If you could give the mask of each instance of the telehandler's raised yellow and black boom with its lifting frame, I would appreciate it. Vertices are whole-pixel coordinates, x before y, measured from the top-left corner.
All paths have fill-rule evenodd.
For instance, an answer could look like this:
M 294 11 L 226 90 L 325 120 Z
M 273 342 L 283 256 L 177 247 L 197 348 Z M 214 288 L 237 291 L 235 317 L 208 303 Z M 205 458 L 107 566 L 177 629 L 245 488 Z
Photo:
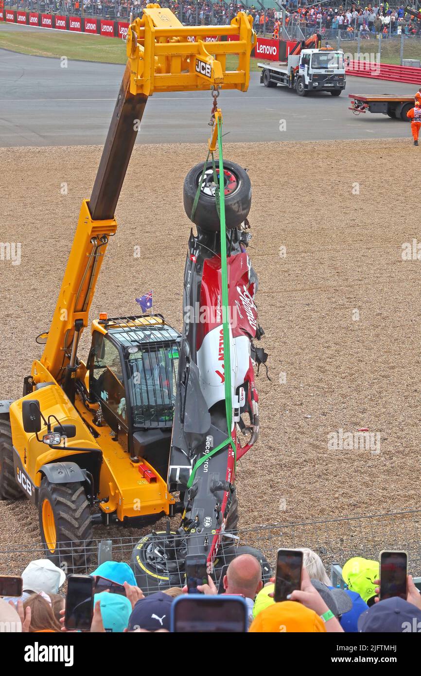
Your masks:
M 212 33 L 216 42 L 207 43 Z M 234 41 L 222 41 L 232 35 Z M 109 126 L 91 199 L 84 200 L 41 364 L 32 377 L 55 379 L 74 400 L 76 351 L 88 325 L 93 293 L 109 237 L 116 233 L 114 211 L 149 96 L 155 92 L 239 89 L 249 85 L 253 19 L 240 11 L 229 26 L 183 26 L 170 9 L 147 5 L 128 28 L 128 62 Z M 235 70 L 227 55 L 238 54 Z

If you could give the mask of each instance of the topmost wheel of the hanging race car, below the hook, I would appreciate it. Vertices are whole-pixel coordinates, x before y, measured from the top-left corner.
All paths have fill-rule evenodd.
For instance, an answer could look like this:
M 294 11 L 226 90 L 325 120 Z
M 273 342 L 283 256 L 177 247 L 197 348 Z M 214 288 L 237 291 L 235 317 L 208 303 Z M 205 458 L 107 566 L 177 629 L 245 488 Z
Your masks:
M 216 209 L 214 170 L 212 162 L 207 162 L 201 193 L 193 218 L 191 218 L 193 203 L 201 180 L 204 162 L 197 164 L 184 178 L 184 210 L 198 228 L 207 232 L 216 233 L 220 229 L 218 210 Z M 219 179 L 219 168 L 216 167 Z M 237 228 L 250 211 L 251 183 L 246 170 L 234 162 L 224 160 L 225 185 L 225 221 L 226 228 Z

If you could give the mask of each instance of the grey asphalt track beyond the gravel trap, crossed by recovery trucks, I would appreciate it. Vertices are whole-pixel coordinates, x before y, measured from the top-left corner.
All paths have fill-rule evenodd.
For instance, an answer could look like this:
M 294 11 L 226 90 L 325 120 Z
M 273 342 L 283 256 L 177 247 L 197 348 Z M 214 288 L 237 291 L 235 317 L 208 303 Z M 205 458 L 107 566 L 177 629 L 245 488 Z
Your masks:
M 8 26 L 9 28 L 9 26 Z M 28 56 L 0 49 L 0 147 L 103 144 L 124 66 Z M 226 141 L 342 141 L 410 137 L 409 126 L 387 116 L 353 116 L 348 93 L 415 93 L 416 84 L 347 78 L 337 98 L 300 98 L 284 87 L 266 89 L 251 73 L 249 91 L 224 91 L 220 105 Z M 140 143 L 203 143 L 210 93 L 155 94 L 148 101 Z M 286 129 L 280 131 L 280 120 Z

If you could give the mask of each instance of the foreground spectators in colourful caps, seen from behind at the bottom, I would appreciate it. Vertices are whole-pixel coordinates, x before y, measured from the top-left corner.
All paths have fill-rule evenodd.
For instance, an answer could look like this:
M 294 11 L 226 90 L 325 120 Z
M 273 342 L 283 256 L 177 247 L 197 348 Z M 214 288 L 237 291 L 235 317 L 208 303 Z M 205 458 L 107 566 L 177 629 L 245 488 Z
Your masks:
M 262 582 L 259 560 L 251 554 L 234 558 L 223 578 L 223 594 L 242 597 L 247 604 L 249 632 L 386 632 L 421 631 L 421 596 L 407 577 L 407 599 L 399 596 L 379 601 L 379 564 L 354 557 L 343 566 L 346 588 L 332 587 L 320 556 L 303 552 L 301 589 L 288 600 L 274 602 L 274 579 Z M 92 575 L 123 585 L 123 594 L 95 594 L 91 632 L 170 631 L 171 606 L 187 587 L 172 587 L 144 596 L 130 566 L 107 561 Z M 66 582 L 64 571 L 51 560 L 30 562 L 22 572 L 20 598 L 0 599 L 0 631 L 61 632 L 64 627 Z M 211 577 L 197 587 L 205 595 L 218 594 Z M 224 618 L 226 625 L 226 618 Z M 217 630 L 217 627 L 215 627 Z M 194 627 L 193 627 L 194 631 Z M 228 629 L 229 631 L 229 629 Z

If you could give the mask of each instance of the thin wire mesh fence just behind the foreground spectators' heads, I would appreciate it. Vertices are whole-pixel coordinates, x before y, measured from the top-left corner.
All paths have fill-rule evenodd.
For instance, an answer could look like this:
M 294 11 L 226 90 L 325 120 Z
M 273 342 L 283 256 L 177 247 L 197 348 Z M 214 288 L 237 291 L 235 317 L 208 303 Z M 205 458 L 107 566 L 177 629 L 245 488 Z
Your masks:
M 186 535 L 180 534 L 177 528 L 178 523 L 173 520 L 171 528 L 168 522 L 166 530 L 148 533 L 149 529 L 143 529 L 137 537 L 95 539 L 77 545 L 61 543 L 55 563 L 65 573 L 92 573 L 107 560 L 124 561 L 132 567 L 144 592 L 153 592 L 159 585 L 179 586 L 184 583 Z M 188 537 L 189 551 L 195 553 L 195 538 L 203 543 L 203 535 L 191 533 Z M 262 554 L 262 569 L 268 579 L 274 571 L 278 548 L 299 547 L 314 550 L 322 558 L 326 571 L 336 571 L 335 575 L 353 556 L 378 560 L 382 550 L 403 550 L 408 554 L 409 572 L 418 577 L 421 574 L 421 510 L 239 528 L 224 535 L 214 577 L 218 582 L 224 564 L 229 564 L 236 552 L 253 548 Z M 253 550 L 251 553 L 257 554 Z M 44 557 L 41 544 L 30 550 L 0 550 L 0 574 L 20 574 L 31 560 Z

